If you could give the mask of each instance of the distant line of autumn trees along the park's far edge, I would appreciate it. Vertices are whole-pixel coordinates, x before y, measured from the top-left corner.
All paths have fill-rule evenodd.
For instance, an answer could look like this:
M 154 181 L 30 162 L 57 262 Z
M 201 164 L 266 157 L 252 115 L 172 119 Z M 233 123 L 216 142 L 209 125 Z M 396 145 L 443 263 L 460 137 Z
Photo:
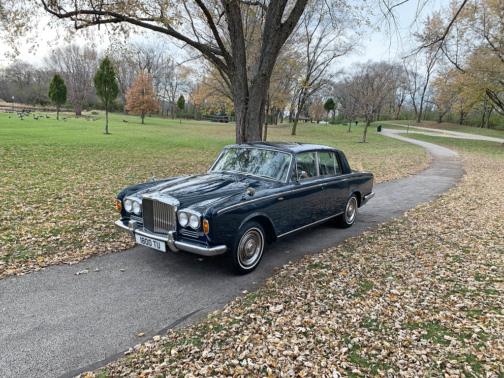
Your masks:
M 349 131 L 350 120 L 357 118 L 365 130 L 371 121 L 400 119 L 503 130 L 504 66 L 499 57 L 504 49 L 498 42 L 504 29 L 498 22 L 499 7 L 488 2 L 486 7 L 467 10 L 458 16 L 455 29 L 439 39 L 458 9 L 454 3 L 423 21 L 402 59 L 361 62 L 346 70 L 338 69 L 341 57 L 358 41 L 346 24 L 331 19 L 334 15 L 327 5 L 310 7 L 276 60 L 263 104 L 263 140 L 269 124 L 292 122 L 295 134 L 300 119 L 348 123 Z M 254 49 L 260 44 L 254 26 L 250 28 L 247 48 L 254 71 L 259 59 Z M 144 115 L 155 112 L 192 119 L 218 112 L 234 115 L 233 94 L 219 70 L 196 55 L 191 65 L 178 64 L 163 42 L 133 43 L 103 53 L 70 45 L 54 50 L 39 66 L 16 60 L 0 69 L 0 96 L 7 102 L 15 96 L 16 102 L 49 105 L 48 85 L 58 73 L 68 86 L 68 103 L 77 114 L 83 108 L 104 109 L 92 81 L 104 54 L 110 57 L 119 89 L 109 108 L 112 111 L 128 111 L 124 107 L 127 93 L 140 72 L 145 72 L 157 103 L 143 108 Z M 177 104 L 180 96 L 185 99 L 182 108 Z

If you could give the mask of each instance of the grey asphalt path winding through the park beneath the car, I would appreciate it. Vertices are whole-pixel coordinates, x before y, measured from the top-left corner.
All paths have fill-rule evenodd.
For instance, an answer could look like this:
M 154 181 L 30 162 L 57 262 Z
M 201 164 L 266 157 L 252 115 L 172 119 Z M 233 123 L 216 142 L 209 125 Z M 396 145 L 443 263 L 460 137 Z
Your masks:
M 392 136 L 392 131 L 382 134 Z M 0 377 L 71 377 L 96 368 L 167 328 L 206 317 L 243 290 L 256 290 L 254 283 L 264 284 L 275 267 L 435 200 L 463 175 L 460 156 L 412 143 L 434 156 L 431 168 L 375 185 L 375 197 L 359 209 L 349 229 L 326 223 L 267 246 L 259 268 L 246 276 L 230 275 L 216 258 L 137 246 L 0 280 Z M 86 268 L 89 273 L 74 275 Z

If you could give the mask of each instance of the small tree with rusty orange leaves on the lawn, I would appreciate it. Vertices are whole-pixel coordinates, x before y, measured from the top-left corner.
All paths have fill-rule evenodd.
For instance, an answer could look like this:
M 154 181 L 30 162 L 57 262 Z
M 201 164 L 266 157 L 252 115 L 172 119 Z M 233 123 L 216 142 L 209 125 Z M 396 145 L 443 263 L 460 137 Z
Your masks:
M 126 92 L 126 104 L 124 109 L 130 110 L 134 114 L 140 114 L 142 124 L 147 111 L 159 109 L 159 100 L 156 99 L 152 77 L 145 71 L 140 71 L 132 87 Z

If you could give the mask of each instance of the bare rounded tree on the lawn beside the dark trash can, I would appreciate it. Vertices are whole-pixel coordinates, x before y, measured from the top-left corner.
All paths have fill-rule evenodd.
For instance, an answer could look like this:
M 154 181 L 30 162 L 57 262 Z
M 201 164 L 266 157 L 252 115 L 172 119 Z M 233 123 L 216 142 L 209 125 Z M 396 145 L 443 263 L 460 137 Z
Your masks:
M 365 143 L 372 118 L 380 113 L 380 109 L 393 98 L 397 90 L 397 69 L 385 61 L 358 64 L 347 79 L 347 86 L 352 88 L 351 97 L 357 112 L 366 119 L 361 142 Z

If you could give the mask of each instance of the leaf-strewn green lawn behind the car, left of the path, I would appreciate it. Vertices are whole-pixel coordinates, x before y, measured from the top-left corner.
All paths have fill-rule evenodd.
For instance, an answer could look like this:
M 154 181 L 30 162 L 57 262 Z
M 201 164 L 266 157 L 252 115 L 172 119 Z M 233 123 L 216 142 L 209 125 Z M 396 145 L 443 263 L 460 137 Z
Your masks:
M 69 115 L 67 115 L 69 116 Z M 113 221 L 117 192 L 146 180 L 206 171 L 234 143 L 234 124 L 109 115 L 67 121 L 0 113 L 0 278 L 79 261 L 133 245 Z M 123 122 L 122 119 L 128 122 Z M 427 163 L 425 150 L 362 127 L 270 126 L 271 141 L 326 144 L 342 149 L 352 168 L 376 181 L 404 177 Z M 427 162 L 427 163 L 426 163 Z

